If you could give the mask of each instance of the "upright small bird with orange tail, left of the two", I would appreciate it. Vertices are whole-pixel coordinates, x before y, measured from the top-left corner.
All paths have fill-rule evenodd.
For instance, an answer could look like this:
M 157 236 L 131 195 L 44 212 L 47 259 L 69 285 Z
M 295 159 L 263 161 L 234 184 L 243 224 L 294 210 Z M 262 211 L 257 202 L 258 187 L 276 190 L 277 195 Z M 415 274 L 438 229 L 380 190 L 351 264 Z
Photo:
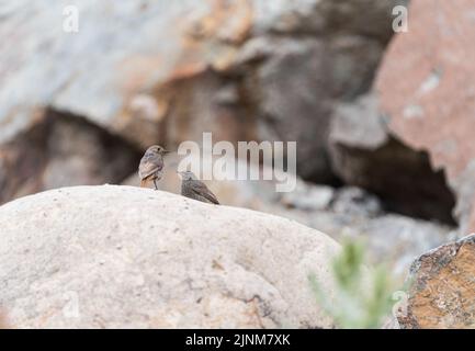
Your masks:
M 146 188 L 148 182 L 154 181 L 155 190 L 158 190 L 157 180 L 160 180 L 163 176 L 165 154 L 168 154 L 168 151 L 160 145 L 152 145 L 145 151 L 138 166 L 140 188 Z

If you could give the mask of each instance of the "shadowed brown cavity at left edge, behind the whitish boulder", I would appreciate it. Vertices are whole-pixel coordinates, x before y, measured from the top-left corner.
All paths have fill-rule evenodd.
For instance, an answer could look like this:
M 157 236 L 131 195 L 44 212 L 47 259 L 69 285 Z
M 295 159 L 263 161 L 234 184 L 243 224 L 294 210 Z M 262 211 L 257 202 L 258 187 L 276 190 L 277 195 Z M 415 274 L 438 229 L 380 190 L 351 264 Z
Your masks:
M 0 203 L 42 190 L 120 183 L 140 152 L 87 120 L 54 110 L 0 147 Z

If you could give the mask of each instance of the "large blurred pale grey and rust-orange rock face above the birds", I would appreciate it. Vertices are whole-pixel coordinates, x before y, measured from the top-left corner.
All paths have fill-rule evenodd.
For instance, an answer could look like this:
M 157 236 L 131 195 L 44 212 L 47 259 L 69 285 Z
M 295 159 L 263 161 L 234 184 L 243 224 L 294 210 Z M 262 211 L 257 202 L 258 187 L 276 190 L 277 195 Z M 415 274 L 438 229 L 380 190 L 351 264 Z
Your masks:
M 16 140 L 36 131 L 50 110 L 83 117 L 140 148 L 201 140 L 203 131 L 215 140 L 297 140 L 298 172 L 328 181 L 333 102 L 369 89 L 393 35 L 392 9 L 406 2 L 3 1 L 3 197 L 48 188 L 34 181 L 42 165 L 30 166 L 31 177 L 20 182 L 25 186 L 5 181 L 21 166 L 4 154 L 21 152 Z M 65 5 L 78 9 L 77 33 L 63 31 Z M 37 149 L 35 158 L 49 158 Z M 88 177 L 83 183 L 93 183 Z

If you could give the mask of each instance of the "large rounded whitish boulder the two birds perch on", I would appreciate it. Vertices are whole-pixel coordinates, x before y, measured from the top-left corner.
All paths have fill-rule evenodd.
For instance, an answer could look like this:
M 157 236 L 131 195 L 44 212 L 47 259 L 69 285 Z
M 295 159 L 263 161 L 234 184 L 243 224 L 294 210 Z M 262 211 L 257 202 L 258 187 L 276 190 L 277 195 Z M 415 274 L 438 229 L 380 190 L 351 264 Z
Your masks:
M 13 327 L 331 327 L 338 245 L 295 222 L 161 191 L 77 186 L 0 207 Z

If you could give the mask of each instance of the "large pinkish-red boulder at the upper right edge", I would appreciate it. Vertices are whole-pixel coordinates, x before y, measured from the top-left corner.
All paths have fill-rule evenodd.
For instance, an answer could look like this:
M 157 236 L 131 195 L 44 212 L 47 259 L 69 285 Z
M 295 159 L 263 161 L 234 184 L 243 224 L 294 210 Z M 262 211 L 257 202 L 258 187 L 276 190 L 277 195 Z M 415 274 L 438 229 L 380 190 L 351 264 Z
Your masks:
M 445 171 L 462 233 L 475 229 L 474 13 L 471 0 L 411 1 L 409 32 L 394 38 L 375 82 L 391 133 Z

